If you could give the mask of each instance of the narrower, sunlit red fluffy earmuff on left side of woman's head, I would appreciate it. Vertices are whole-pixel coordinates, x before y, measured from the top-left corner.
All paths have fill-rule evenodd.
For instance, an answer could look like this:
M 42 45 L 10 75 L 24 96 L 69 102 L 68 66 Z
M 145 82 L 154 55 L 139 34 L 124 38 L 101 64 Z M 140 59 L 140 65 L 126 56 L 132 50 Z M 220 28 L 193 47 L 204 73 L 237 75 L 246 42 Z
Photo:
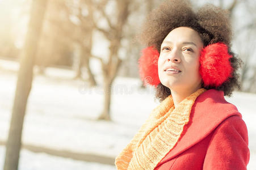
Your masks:
M 144 85 L 150 84 L 156 87 L 160 84 L 157 67 L 158 58 L 158 50 L 153 46 L 142 49 L 139 59 L 139 71 Z

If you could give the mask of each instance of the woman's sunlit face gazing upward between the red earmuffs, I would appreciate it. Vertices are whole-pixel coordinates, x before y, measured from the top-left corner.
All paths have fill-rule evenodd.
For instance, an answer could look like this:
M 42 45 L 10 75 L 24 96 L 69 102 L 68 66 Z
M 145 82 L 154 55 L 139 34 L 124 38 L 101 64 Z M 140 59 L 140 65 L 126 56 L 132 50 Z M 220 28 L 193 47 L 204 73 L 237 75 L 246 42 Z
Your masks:
M 158 59 L 158 76 L 170 90 L 197 90 L 201 87 L 199 74 L 200 50 L 203 41 L 192 28 L 173 29 L 163 40 Z

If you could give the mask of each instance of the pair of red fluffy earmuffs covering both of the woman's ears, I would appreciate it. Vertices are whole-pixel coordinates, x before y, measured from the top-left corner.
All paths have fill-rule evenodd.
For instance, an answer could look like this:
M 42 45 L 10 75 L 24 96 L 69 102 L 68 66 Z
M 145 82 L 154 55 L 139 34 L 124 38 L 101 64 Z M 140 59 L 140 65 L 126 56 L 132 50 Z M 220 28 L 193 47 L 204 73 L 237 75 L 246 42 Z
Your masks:
M 159 55 L 153 46 L 142 50 L 139 59 L 139 71 L 144 85 L 150 84 L 156 87 L 160 84 L 157 67 Z M 222 42 L 205 46 L 202 49 L 199 72 L 204 86 L 219 87 L 232 76 L 233 69 L 229 58 L 232 56 L 228 53 L 228 46 Z

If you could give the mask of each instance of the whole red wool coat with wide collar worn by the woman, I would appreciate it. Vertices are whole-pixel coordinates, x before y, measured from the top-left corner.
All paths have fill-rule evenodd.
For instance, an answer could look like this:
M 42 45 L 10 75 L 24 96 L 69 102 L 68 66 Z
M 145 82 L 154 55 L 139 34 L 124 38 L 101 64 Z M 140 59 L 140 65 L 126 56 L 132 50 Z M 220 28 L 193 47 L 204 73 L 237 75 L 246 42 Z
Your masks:
M 223 94 L 208 90 L 196 99 L 177 145 L 155 169 L 246 169 L 247 128 Z

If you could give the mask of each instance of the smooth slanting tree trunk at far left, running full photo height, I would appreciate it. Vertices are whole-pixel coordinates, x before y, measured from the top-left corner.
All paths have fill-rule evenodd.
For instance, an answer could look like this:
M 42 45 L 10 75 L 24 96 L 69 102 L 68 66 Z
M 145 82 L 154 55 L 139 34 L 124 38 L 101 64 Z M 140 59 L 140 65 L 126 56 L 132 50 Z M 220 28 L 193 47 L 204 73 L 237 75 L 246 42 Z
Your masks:
M 6 143 L 4 170 L 18 169 L 23 120 L 26 113 L 27 99 L 32 86 L 37 42 L 39 41 L 46 6 L 47 0 L 32 1 L 30 23 L 20 58 L 20 69 L 12 108 L 9 137 Z

